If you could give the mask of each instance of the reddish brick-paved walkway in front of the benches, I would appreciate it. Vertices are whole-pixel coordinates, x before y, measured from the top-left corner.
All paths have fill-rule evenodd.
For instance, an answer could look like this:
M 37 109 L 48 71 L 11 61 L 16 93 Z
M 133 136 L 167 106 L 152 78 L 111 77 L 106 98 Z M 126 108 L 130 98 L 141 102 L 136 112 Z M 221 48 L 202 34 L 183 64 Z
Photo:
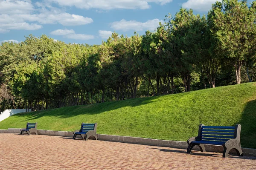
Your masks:
M 256 157 L 45 135 L 0 134 L 0 170 L 255 170 Z

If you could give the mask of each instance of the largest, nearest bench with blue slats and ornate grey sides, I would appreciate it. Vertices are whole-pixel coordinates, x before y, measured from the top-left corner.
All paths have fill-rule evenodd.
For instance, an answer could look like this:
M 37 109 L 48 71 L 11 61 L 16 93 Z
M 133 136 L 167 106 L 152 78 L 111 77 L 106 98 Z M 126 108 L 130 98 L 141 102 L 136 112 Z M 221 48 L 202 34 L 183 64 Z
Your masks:
M 235 149 L 238 156 L 243 156 L 240 143 L 241 125 L 235 127 L 227 126 L 204 126 L 199 125 L 198 136 L 189 138 L 187 143 L 187 153 L 191 153 L 195 145 L 200 147 L 201 152 L 205 152 L 204 144 L 220 145 L 224 147 L 222 157 L 227 158 L 231 149 Z

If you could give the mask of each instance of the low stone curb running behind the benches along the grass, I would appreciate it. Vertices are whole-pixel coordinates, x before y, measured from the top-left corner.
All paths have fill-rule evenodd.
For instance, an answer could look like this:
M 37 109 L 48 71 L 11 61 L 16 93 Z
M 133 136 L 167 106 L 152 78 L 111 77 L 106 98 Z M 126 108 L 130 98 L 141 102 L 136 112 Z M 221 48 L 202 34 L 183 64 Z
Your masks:
M 20 133 L 18 128 L 8 128 L 8 130 L 0 130 L 0 133 Z M 38 130 L 38 135 L 52 135 L 52 136 L 63 136 L 63 137 L 73 137 L 73 132 L 67 131 L 53 131 L 53 130 Z M 185 141 L 167 141 L 159 139 L 150 138 L 137 138 L 130 136 L 118 136 L 118 135 L 103 135 L 97 134 L 98 140 L 100 141 L 112 141 L 112 142 L 122 142 L 129 144 L 143 144 L 158 147 L 175 147 L 179 149 L 187 149 L 187 143 Z M 199 150 L 199 147 L 195 147 L 195 150 Z M 207 152 L 217 152 L 222 153 L 222 146 L 215 145 L 205 145 L 205 150 Z M 256 156 L 256 149 L 242 148 L 244 155 L 246 156 Z M 230 151 L 231 154 L 236 154 L 235 150 Z

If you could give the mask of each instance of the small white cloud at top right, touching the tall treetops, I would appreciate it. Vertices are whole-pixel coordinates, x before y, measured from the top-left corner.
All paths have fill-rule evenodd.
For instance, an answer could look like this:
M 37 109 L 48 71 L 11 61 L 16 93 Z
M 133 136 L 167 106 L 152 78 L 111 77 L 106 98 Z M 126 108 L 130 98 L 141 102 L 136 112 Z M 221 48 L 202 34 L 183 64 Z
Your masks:
M 207 12 L 216 1 L 217 0 L 188 0 L 186 3 L 182 4 L 182 7 L 193 9 L 195 11 Z

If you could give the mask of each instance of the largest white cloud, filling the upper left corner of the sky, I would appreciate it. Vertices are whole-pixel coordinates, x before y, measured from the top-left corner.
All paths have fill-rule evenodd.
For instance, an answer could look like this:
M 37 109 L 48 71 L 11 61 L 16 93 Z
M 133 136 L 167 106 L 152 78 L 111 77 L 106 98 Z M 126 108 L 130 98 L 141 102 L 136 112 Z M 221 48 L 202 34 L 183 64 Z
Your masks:
M 41 29 L 41 24 L 78 26 L 93 22 L 92 18 L 69 14 L 49 4 L 35 5 L 30 0 L 0 0 L 0 33 L 9 32 L 11 29 Z

